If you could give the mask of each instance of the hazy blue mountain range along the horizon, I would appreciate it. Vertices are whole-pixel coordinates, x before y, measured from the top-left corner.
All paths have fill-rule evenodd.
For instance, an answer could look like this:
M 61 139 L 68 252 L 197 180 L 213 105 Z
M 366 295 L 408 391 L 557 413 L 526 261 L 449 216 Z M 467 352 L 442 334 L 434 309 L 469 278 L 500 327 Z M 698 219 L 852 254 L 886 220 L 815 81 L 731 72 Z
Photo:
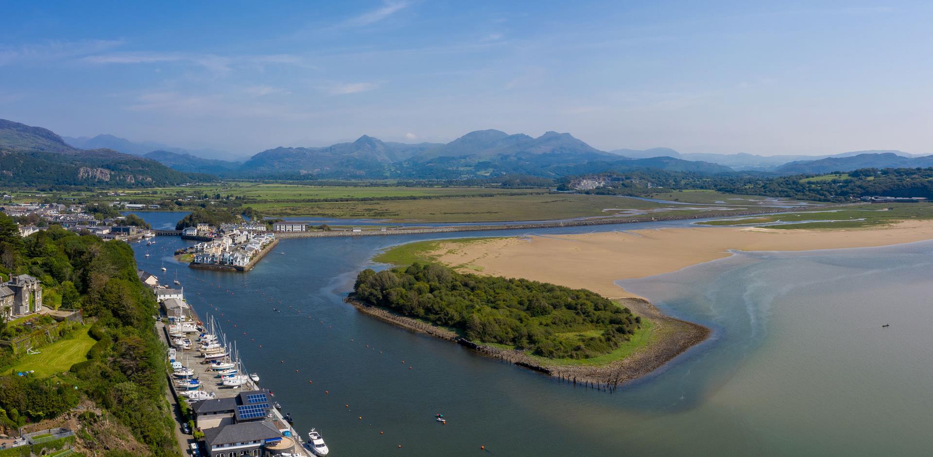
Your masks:
M 104 145 L 107 147 L 100 147 Z M 81 146 L 94 148 L 81 149 Z M 160 143 L 136 143 L 108 134 L 63 139 L 41 127 L 2 119 L 0 150 L 5 154 L 2 170 L 7 177 L 14 170 L 7 167 L 18 167 L 21 176 L 30 175 L 23 169 L 27 157 L 32 160 L 29 166 L 36 170 L 60 172 L 61 179 L 46 179 L 43 181 L 46 184 L 163 185 L 188 181 L 190 173 L 256 179 L 460 179 L 503 174 L 561 177 L 633 170 L 829 173 L 933 165 L 933 157 L 901 151 L 854 151 L 827 156 L 679 153 L 667 147 L 602 151 L 569 133 L 545 132 L 533 137 L 497 130 L 469 132 L 446 144 L 383 142 L 362 135 L 354 142 L 323 147 L 274 147 L 240 162 L 202 156 L 217 153 L 215 150 L 189 151 Z M 21 159 L 19 165 L 7 157 L 13 153 Z M 80 171 L 84 169 L 110 173 Z M 25 185 L 22 183 L 28 181 L 5 179 L 0 183 Z

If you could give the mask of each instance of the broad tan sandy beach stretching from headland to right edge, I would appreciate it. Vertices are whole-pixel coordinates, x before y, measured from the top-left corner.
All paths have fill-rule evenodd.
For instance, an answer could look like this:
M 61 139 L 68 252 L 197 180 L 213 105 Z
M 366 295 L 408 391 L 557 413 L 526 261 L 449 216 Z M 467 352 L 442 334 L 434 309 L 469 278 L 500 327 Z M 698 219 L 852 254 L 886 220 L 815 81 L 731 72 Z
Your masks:
M 431 255 L 464 272 L 519 277 L 637 298 L 614 284 L 667 273 L 741 251 L 808 251 L 884 246 L 933 239 L 933 221 L 886 228 L 659 228 L 585 235 L 531 236 L 440 243 Z

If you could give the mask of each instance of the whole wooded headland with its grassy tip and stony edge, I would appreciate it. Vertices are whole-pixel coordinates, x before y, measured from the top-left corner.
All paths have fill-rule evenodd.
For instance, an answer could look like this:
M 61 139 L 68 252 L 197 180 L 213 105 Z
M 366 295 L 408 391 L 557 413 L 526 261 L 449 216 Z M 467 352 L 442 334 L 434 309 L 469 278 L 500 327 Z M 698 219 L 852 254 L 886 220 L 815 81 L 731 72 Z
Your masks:
M 660 312 L 634 315 L 626 301 L 590 290 L 461 273 L 438 263 L 363 270 L 354 290 L 348 301 L 385 321 L 606 388 L 647 374 L 709 333 Z

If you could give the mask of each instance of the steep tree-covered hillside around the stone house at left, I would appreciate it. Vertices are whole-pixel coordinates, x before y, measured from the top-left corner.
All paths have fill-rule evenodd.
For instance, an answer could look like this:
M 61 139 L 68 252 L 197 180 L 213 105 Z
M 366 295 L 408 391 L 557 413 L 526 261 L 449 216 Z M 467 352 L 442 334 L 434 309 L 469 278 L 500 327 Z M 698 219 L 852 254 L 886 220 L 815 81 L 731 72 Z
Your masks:
M 81 310 L 96 339 L 87 361 L 50 378 L 0 376 L 0 425 L 15 430 L 90 399 L 107 411 L 108 421 L 128 427 L 148 455 L 178 455 L 165 401 L 165 357 L 154 331 L 156 302 L 136 276 L 130 245 L 57 226 L 23 239 L 0 214 L 0 273 L 41 280 L 46 304 L 61 300 L 64 308 Z M 0 372 L 17 363 L 8 348 L 0 350 Z M 77 436 L 89 446 L 97 438 L 81 431 Z

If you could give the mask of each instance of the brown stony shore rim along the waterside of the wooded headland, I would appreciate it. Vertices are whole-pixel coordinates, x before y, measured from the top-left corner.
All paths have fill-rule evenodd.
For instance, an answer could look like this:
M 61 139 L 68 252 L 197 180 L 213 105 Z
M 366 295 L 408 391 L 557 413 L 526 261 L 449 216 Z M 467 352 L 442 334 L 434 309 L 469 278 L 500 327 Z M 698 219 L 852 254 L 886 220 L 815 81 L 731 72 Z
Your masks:
M 620 298 L 617 301 L 620 301 L 621 305 L 627 306 L 634 312 L 638 312 L 638 315 L 644 316 L 654 323 L 655 327 L 651 335 L 652 342 L 624 359 L 610 362 L 604 366 L 563 365 L 548 363 L 541 358 L 529 356 L 522 351 L 502 349 L 470 341 L 446 328 L 359 301 L 354 298 L 353 293 L 349 294 L 343 301 L 353 306 L 356 311 L 369 314 L 388 324 L 444 339 L 464 346 L 480 355 L 503 360 L 522 368 L 558 378 L 561 381 L 571 382 L 574 385 L 581 384 L 585 387 L 606 390 L 607 392 L 615 391 L 620 385 L 634 381 L 663 367 L 689 348 L 708 339 L 712 333 L 709 328 L 703 325 L 663 314 L 648 300 Z M 674 331 L 668 331 L 671 329 Z

